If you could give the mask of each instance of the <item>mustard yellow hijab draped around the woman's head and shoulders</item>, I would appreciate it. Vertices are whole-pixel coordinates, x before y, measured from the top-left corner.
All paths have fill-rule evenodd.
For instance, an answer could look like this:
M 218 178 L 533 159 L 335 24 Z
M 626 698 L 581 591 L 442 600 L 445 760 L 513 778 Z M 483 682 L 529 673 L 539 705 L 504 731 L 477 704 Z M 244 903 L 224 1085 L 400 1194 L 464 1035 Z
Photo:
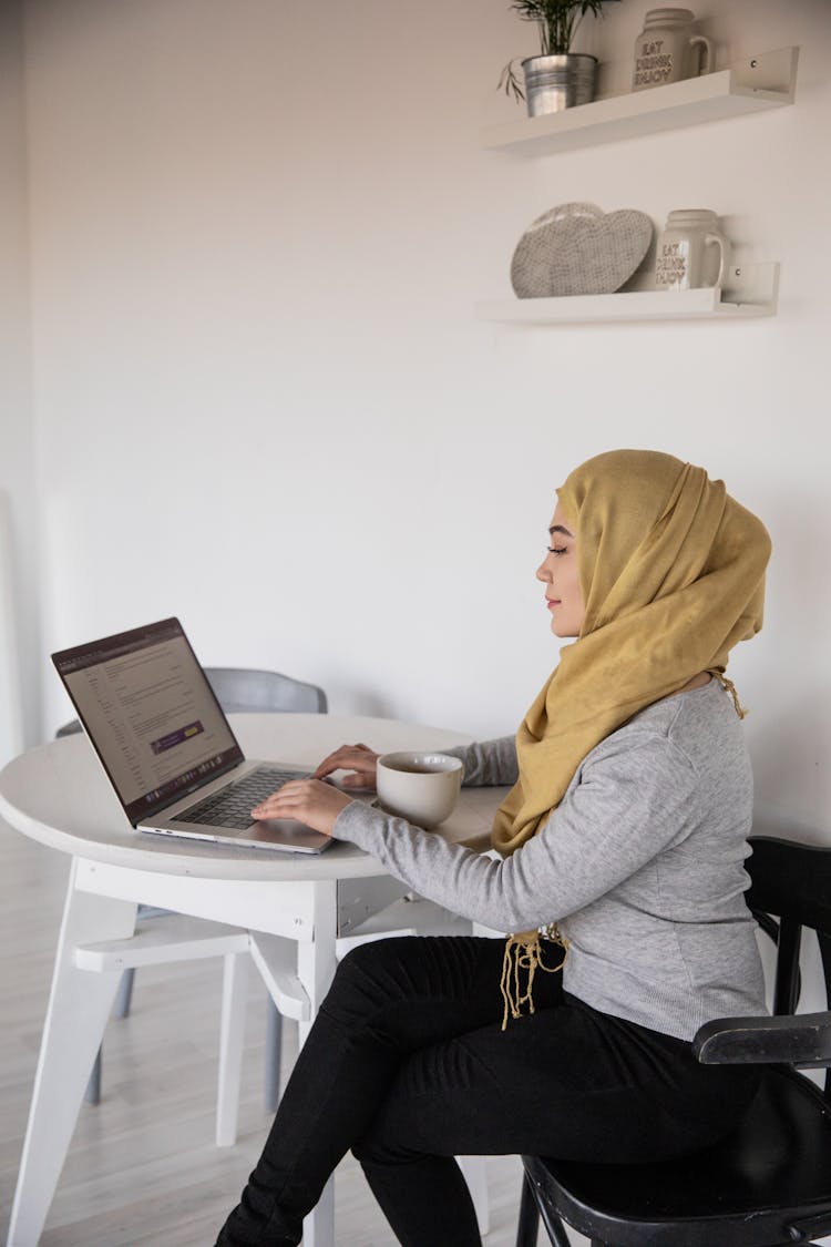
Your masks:
M 770 537 L 703 468 L 649 450 L 589 459 L 557 490 L 586 615 L 517 733 L 518 783 L 492 843 L 508 854 L 559 804 L 586 754 L 761 627 Z

